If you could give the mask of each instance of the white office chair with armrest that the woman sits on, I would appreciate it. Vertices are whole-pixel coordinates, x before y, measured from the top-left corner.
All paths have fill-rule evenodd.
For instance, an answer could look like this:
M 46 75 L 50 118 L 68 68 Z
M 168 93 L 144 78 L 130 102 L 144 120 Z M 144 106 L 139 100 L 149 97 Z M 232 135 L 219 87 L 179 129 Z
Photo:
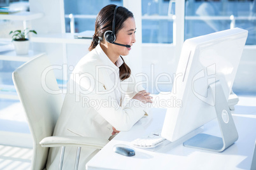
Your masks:
M 77 169 L 81 147 L 102 148 L 108 143 L 108 140 L 83 136 L 52 136 L 63 99 L 46 55 L 24 63 L 12 77 L 32 134 L 31 169 L 45 168 L 49 147 L 62 147 L 59 169 L 62 169 L 65 147 L 78 147 L 74 165 Z

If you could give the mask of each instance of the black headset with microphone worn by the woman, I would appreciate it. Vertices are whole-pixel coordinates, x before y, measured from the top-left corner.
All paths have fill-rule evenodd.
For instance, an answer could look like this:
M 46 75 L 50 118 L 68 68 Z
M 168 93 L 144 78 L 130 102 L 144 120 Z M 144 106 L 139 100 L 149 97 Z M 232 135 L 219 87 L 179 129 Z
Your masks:
M 117 8 L 118 7 L 119 6 L 116 6 L 115 10 L 114 10 L 112 30 L 107 30 L 104 33 L 104 37 L 106 39 L 106 42 L 110 42 L 111 44 L 116 44 L 118 46 L 124 46 L 126 48 L 131 48 L 131 46 L 128 45 L 128 44 L 119 44 L 119 43 L 115 42 L 115 40 L 116 40 L 116 36 L 115 36 L 115 16 L 117 15 Z

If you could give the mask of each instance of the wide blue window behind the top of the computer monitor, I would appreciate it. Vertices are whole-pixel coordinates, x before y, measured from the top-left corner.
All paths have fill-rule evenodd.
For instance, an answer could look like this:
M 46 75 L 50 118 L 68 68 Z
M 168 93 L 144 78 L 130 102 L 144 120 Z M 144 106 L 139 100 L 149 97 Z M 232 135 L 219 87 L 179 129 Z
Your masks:
M 239 27 L 248 30 L 246 44 L 256 44 L 256 3 L 252 0 L 185 3 L 185 39 Z

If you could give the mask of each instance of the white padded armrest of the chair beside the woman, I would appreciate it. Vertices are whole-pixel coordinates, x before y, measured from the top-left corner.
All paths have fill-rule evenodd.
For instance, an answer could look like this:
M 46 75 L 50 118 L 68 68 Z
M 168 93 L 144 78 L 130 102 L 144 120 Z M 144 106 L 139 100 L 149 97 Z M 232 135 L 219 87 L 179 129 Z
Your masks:
M 49 136 L 39 142 L 41 147 L 90 147 L 103 148 L 108 140 L 85 136 Z

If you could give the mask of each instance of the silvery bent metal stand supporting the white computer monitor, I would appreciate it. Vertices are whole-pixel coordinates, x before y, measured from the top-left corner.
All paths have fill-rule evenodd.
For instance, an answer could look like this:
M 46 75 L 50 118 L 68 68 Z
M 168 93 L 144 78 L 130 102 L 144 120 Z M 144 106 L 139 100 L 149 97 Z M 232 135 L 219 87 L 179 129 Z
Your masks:
M 222 152 L 238 140 L 238 131 L 236 131 L 236 126 L 220 82 L 214 82 L 209 87 L 215 101 L 215 110 L 222 138 L 200 133 L 185 141 L 183 145 L 185 147 Z

